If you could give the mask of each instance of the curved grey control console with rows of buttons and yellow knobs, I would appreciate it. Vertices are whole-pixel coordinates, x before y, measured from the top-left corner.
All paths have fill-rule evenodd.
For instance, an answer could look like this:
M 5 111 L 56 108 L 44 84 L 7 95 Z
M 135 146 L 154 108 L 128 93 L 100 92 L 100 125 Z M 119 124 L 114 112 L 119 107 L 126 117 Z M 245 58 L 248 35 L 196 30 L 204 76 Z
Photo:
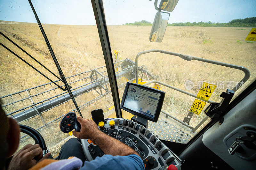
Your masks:
M 143 160 L 145 169 L 159 169 L 162 166 L 175 165 L 180 170 L 182 160 L 170 151 L 152 132 L 127 119 L 105 119 L 99 129 L 134 149 Z M 90 139 L 81 140 L 88 161 L 101 157 L 104 152 Z

